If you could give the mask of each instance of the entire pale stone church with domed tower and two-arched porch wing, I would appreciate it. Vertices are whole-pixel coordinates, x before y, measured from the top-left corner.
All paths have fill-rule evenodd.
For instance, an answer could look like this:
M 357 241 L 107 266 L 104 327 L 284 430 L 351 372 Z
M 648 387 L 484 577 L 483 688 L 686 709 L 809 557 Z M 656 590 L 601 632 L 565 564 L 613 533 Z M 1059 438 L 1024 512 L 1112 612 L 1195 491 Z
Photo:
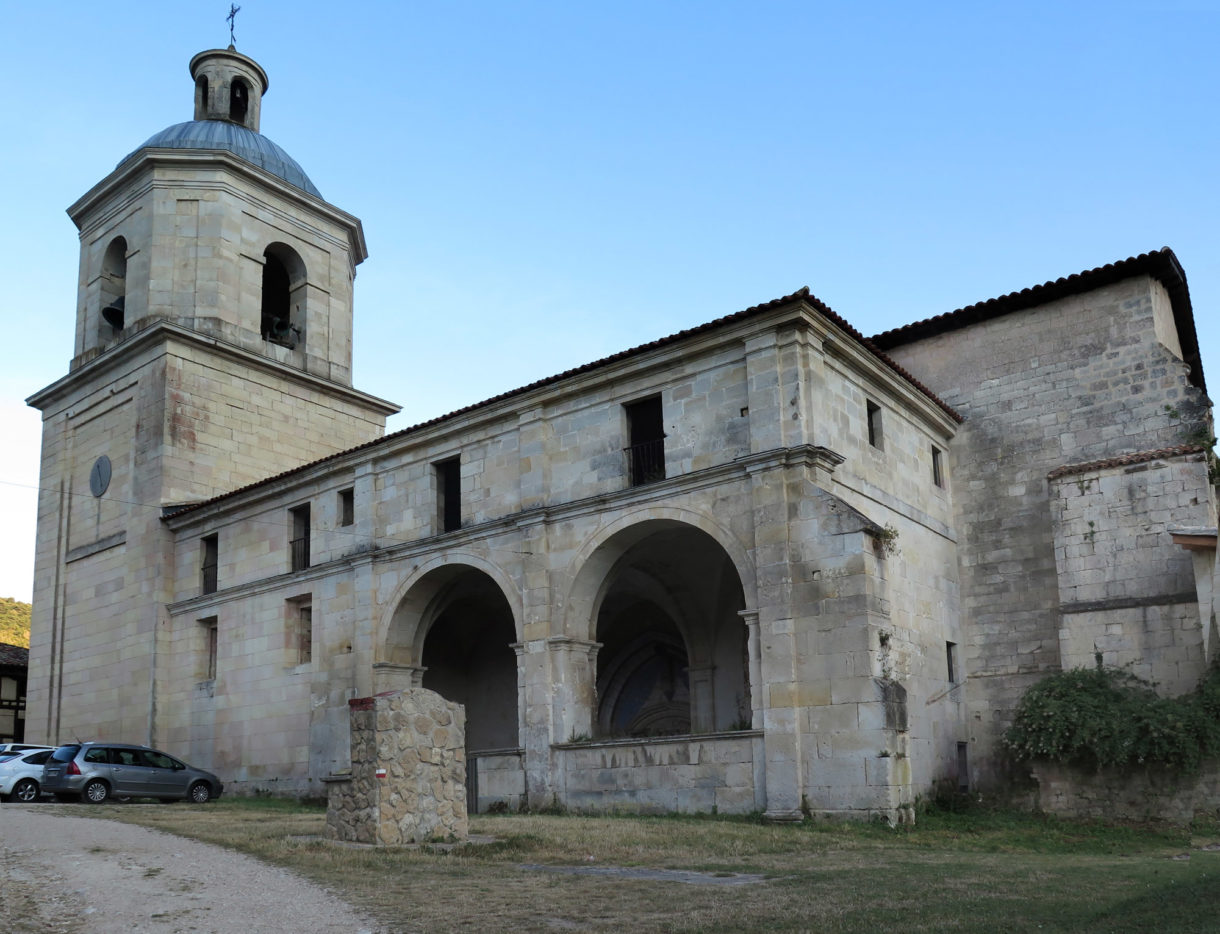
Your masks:
M 866 338 L 808 290 L 384 434 L 360 221 L 190 61 L 76 204 L 35 393 L 28 740 L 320 794 L 349 701 L 466 707 L 476 810 L 883 815 L 1002 780 L 1021 693 L 1215 652 L 1211 416 L 1163 249 Z

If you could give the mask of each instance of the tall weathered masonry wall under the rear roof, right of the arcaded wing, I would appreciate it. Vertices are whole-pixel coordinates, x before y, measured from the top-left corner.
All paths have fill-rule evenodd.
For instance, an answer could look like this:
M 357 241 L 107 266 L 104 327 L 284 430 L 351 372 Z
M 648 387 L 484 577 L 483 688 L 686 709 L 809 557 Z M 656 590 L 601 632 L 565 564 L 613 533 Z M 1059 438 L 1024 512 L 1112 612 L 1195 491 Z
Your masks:
M 1180 444 L 1207 417 L 1161 340 L 1168 315 L 1160 283 L 1133 277 L 888 349 L 965 416 L 952 482 L 976 762 L 999 761 L 1021 694 L 1061 666 L 1047 474 Z M 1000 777 L 976 771 L 983 784 Z

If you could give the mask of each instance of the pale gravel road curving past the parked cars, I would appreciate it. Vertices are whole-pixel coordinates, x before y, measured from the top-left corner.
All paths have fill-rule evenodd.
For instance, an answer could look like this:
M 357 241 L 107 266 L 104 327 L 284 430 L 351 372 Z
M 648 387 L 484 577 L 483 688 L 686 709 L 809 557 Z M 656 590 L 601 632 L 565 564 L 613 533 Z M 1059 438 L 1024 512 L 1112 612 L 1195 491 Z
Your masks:
M 0 805 L 0 932 L 382 934 L 284 869 L 55 805 Z

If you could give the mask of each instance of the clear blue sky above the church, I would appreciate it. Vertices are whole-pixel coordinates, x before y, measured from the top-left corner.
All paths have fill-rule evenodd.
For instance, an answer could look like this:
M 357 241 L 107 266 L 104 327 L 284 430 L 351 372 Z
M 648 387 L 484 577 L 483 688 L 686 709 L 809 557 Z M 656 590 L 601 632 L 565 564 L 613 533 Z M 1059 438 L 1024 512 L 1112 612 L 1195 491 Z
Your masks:
M 1171 246 L 1220 385 L 1218 2 L 243 0 L 262 132 L 362 218 L 395 430 L 809 285 L 874 334 Z M 0 596 L 28 600 L 63 209 L 190 119 L 227 2 L 5 2 Z

